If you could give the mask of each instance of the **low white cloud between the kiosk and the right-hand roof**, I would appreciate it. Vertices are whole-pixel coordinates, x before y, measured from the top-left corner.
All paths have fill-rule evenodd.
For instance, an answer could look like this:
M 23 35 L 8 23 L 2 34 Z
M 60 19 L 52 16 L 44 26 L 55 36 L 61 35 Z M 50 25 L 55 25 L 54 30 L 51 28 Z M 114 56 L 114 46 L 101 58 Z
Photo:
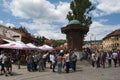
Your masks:
M 85 40 L 101 40 L 112 31 L 120 29 L 119 25 L 104 25 L 102 22 L 93 22 Z

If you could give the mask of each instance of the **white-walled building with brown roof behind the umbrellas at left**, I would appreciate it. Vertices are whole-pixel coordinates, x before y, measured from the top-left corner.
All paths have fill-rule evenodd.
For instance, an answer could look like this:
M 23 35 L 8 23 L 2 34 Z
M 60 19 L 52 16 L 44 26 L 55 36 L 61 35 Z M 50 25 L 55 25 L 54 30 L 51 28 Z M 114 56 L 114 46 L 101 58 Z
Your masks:
M 24 43 L 37 43 L 38 41 L 34 36 L 22 32 L 19 29 L 13 29 L 11 27 L 6 27 L 0 25 L 0 42 L 2 43 L 2 39 L 8 39 L 13 41 L 22 41 Z

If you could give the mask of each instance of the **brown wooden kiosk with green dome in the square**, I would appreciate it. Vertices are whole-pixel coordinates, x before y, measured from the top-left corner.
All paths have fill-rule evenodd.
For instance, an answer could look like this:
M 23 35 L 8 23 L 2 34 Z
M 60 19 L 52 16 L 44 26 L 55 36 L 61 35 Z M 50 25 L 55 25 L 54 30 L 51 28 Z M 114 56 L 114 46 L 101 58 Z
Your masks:
M 67 26 L 61 28 L 61 32 L 66 34 L 69 49 L 81 50 L 84 35 L 89 31 L 88 27 L 82 26 L 78 20 L 72 20 Z

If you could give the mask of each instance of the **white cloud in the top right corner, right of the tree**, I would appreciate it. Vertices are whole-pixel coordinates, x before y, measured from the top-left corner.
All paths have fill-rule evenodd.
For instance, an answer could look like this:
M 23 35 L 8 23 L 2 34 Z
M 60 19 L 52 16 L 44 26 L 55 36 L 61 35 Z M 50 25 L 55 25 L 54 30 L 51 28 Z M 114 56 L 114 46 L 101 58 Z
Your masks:
M 91 0 L 96 4 L 96 10 L 93 15 L 103 16 L 113 13 L 120 13 L 120 1 L 119 0 Z

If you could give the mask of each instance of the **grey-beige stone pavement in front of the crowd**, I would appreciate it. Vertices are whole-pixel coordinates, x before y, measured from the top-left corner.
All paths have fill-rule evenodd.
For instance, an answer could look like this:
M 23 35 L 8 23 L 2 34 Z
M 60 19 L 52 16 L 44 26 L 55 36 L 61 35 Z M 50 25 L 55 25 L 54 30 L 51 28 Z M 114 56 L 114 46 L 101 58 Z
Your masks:
M 0 75 L 0 80 L 120 80 L 120 67 L 103 69 L 77 65 L 76 72 L 70 70 L 70 73 L 58 74 L 49 69 L 44 72 L 28 72 L 26 66 L 17 69 L 17 66 L 13 65 L 13 76 Z

